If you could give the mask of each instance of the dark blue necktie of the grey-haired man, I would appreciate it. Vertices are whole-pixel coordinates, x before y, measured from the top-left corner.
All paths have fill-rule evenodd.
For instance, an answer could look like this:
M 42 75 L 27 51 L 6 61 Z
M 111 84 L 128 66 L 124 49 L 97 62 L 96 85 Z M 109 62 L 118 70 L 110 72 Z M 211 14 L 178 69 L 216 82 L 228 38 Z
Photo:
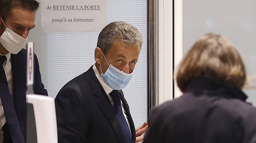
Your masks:
M 121 124 L 121 127 L 123 129 L 123 135 L 125 139 L 125 143 L 131 143 L 132 142 L 132 136 L 131 131 L 129 129 L 129 126 L 127 124 L 126 119 L 124 118 L 123 111 L 122 111 L 122 105 L 120 102 L 120 95 L 118 90 L 113 90 L 109 93 L 109 95 L 112 97 L 114 102 L 114 109 L 117 113 L 117 118 Z

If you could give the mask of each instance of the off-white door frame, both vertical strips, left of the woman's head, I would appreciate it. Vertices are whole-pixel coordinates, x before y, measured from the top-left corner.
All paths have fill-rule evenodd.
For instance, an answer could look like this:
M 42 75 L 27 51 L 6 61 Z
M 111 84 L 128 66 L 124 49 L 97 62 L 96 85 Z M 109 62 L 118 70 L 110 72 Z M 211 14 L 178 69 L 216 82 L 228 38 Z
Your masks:
M 182 1 L 174 0 L 174 28 L 173 28 L 173 1 L 159 0 L 158 2 L 158 105 L 165 101 L 172 100 L 173 86 L 174 97 L 182 93 L 173 85 L 173 64 L 174 72 L 182 59 Z M 173 41 L 174 31 L 174 41 Z M 173 58 L 174 42 L 174 58 Z M 174 60 L 173 60 L 174 59 Z

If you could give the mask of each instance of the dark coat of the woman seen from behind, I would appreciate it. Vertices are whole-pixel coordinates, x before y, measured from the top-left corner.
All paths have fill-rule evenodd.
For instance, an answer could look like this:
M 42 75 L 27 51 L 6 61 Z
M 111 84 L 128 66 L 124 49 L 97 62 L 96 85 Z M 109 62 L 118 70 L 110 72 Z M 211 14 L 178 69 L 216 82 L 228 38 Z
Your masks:
M 202 76 L 151 110 L 143 143 L 255 143 L 256 109 L 239 89 Z

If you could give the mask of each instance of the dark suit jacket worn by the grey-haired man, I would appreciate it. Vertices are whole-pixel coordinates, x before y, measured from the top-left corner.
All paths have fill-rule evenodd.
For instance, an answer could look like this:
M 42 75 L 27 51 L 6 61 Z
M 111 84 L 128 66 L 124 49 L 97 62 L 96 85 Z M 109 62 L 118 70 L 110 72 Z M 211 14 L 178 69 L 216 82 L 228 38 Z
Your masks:
M 135 127 L 129 107 L 121 100 L 132 133 Z M 92 67 L 68 82 L 55 98 L 59 143 L 123 143 L 122 128 L 106 92 Z

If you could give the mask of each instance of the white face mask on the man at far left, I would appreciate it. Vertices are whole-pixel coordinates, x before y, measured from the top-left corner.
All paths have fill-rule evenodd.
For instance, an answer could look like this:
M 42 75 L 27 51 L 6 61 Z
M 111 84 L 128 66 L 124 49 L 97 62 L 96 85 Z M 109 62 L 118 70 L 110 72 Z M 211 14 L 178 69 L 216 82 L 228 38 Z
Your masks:
M 2 17 L 1 17 L 2 19 Z M 3 22 L 3 19 L 2 19 Z M 4 23 L 4 22 L 3 22 Z M 4 23 L 5 25 L 5 23 Z M 23 38 L 19 34 L 15 33 L 11 29 L 5 26 L 5 31 L 0 37 L 0 42 L 4 46 L 4 48 L 12 53 L 12 54 L 17 54 L 20 52 L 22 47 L 26 44 L 27 38 Z

